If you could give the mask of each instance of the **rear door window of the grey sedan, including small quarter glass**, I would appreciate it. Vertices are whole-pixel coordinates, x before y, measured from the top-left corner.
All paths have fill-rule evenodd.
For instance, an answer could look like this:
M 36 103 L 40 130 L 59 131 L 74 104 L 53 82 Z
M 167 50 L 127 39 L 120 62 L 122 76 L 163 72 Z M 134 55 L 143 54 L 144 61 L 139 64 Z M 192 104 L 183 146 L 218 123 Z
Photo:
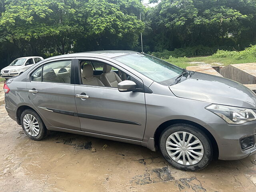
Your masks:
M 71 77 L 71 60 L 44 64 L 31 74 L 31 81 L 68 83 Z

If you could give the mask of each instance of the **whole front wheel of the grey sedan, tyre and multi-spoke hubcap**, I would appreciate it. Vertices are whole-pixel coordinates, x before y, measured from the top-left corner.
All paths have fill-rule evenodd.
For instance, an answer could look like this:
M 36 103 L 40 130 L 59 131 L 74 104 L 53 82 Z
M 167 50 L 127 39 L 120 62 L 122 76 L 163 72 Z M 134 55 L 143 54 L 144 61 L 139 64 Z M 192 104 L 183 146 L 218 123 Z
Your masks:
M 212 160 L 209 138 L 189 124 L 168 126 L 160 136 L 159 146 L 164 158 L 181 170 L 201 170 Z

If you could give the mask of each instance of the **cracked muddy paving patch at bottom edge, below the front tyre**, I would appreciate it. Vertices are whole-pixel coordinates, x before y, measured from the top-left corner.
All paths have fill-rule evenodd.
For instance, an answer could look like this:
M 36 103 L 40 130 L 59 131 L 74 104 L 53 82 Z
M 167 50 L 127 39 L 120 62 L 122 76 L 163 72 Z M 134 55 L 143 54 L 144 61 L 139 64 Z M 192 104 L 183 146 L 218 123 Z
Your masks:
M 175 181 L 175 184 L 178 185 L 180 191 L 185 192 L 188 190 L 193 190 L 195 192 L 206 192 L 206 189 L 202 187 L 202 184 L 196 177 L 191 178 L 182 178 Z

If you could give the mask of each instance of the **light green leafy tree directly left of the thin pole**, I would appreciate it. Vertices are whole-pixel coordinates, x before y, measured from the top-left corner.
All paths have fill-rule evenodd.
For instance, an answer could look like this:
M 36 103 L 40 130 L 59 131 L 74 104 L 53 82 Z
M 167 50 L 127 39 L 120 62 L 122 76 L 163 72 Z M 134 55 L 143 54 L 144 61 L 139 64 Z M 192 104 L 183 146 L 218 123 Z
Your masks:
M 76 51 L 129 49 L 138 44 L 144 23 L 140 0 L 89 0 L 84 9 L 85 33 Z

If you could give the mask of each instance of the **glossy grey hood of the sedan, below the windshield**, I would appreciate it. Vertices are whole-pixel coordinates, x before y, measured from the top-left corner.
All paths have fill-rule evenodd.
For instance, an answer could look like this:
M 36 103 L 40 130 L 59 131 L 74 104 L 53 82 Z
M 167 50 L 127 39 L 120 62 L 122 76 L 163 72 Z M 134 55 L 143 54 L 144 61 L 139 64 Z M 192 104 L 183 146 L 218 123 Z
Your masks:
M 256 94 L 246 86 L 226 78 L 195 72 L 176 85 L 169 86 L 177 97 L 245 108 L 256 108 Z

